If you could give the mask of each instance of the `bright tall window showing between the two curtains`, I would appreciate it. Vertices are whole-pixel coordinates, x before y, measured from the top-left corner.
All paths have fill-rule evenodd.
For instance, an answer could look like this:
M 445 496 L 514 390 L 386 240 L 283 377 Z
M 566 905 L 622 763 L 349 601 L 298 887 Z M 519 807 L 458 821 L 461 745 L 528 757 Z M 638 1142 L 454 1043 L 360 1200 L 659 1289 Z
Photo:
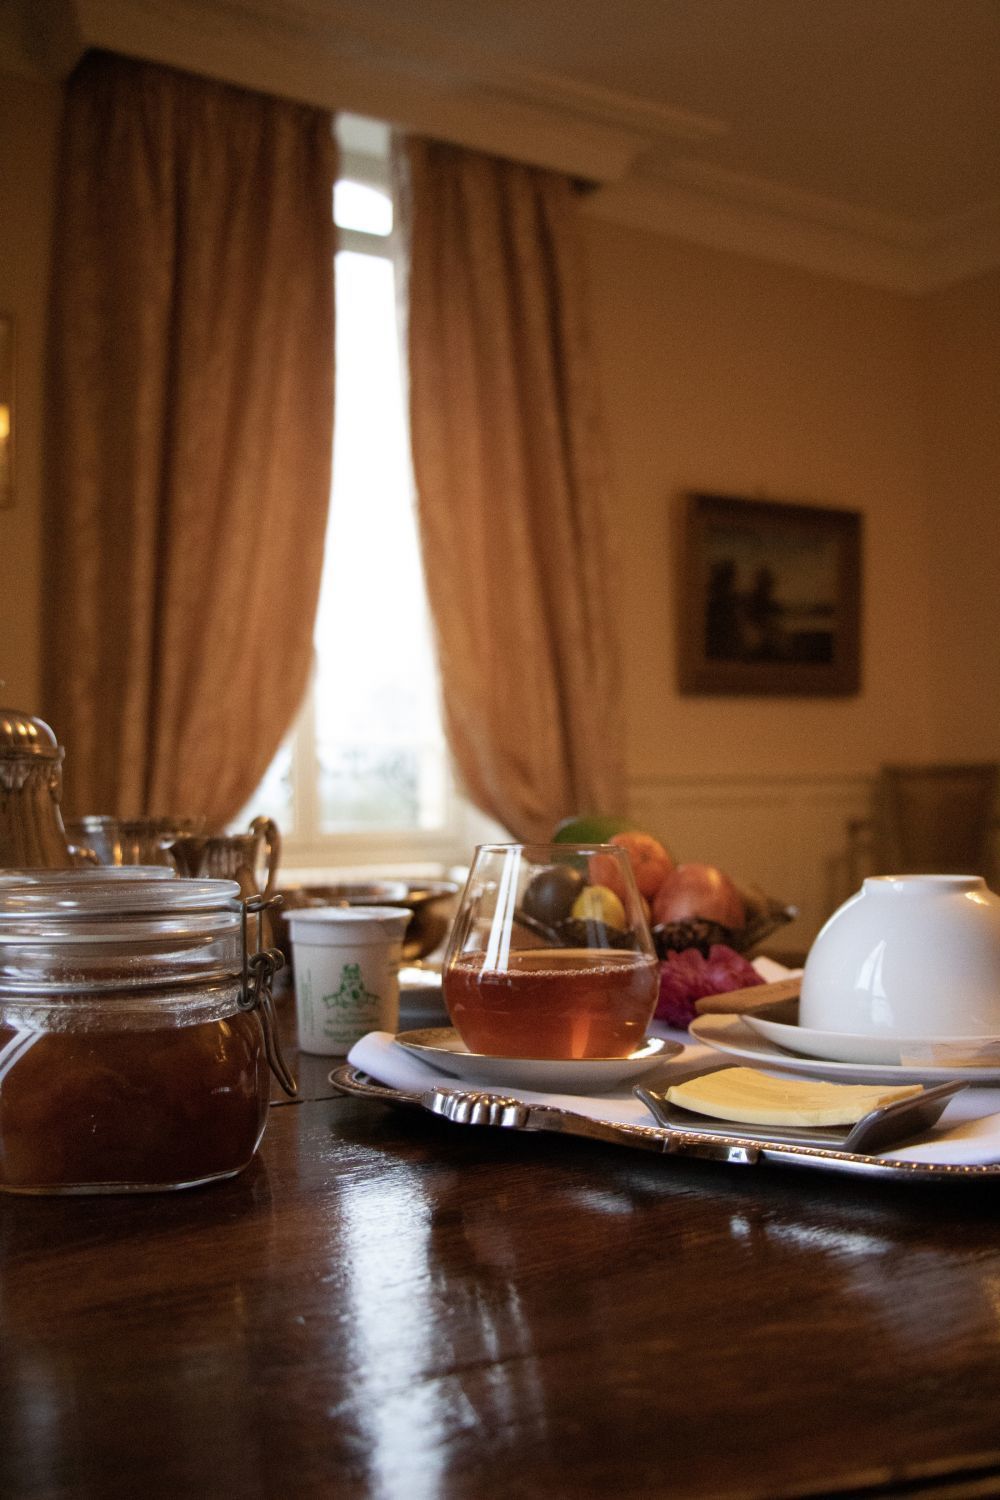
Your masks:
M 310 688 L 247 814 L 285 867 L 465 861 L 496 830 L 457 795 L 412 504 L 388 130 L 339 122 L 333 494 Z M 240 824 L 243 822 L 240 818 Z

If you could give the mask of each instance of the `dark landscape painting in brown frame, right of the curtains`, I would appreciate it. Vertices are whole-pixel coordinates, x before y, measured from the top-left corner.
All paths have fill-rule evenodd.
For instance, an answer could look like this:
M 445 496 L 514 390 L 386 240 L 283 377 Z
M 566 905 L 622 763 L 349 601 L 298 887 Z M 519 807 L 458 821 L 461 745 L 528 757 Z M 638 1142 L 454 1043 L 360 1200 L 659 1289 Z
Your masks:
M 856 693 L 861 514 L 685 496 L 682 693 Z

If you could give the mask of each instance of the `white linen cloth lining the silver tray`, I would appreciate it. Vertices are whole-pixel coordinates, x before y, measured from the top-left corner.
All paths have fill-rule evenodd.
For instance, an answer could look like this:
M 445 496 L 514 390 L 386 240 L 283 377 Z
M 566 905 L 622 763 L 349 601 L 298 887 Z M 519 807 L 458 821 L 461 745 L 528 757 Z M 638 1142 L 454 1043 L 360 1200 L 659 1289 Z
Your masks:
M 685 1046 L 676 1058 L 643 1074 L 640 1082 L 645 1084 L 666 1088 L 672 1078 L 688 1072 L 696 1064 L 726 1064 L 718 1052 L 690 1042 L 684 1032 L 675 1032 L 655 1023 L 651 1032 L 682 1041 Z M 456 1078 L 432 1068 L 421 1058 L 400 1047 L 391 1032 L 369 1032 L 367 1036 L 354 1044 L 348 1062 L 376 1082 L 393 1089 L 405 1089 L 408 1094 L 420 1094 L 435 1088 L 477 1088 L 468 1078 Z M 484 1080 L 478 1088 L 487 1094 L 504 1094 L 508 1098 L 520 1100 L 523 1104 L 552 1104 L 556 1108 L 571 1110 L 576 1114 L 588 1116 L 588 1119 L 609 1120 L 615 1125 L 657 1124 L 646 1106 L 634 1098 L 631 1083 L 601 1095 L 537 1094 L 531 1089 L 508 1088 L 507 1084 L 501 1088 L 489 1080 Z M 739 1126 L 733 1128 L 739 1130 Z M 909 1146 L 883 1152 L 883 1156 L 888 1161 L 951 1166 L 1000 1162 L 1000 1089 L 966 1089 L 951 1100 L 934 1130 Z

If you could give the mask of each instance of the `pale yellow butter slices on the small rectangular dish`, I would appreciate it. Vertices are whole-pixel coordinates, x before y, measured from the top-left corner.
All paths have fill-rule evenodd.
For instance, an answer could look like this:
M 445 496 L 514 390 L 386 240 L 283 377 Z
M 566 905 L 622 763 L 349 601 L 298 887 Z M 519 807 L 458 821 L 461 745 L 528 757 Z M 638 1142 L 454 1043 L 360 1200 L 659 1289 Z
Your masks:
M 742 1125 L 856 1125 L 871 1110 L 921 1094 L 921 1084 L 885 1088 L 774 1078 L 756 1068 L 720 1068 L 666 1089 L 670 1104 Z

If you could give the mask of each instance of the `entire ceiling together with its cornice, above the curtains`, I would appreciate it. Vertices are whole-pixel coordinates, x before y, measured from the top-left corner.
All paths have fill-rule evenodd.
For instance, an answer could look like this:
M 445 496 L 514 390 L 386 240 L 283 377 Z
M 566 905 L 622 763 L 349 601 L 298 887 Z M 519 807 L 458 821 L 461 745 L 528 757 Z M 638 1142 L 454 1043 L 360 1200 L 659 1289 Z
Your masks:
M 72 30 L 522 156 L 658 232 L 907 292 L 1000 264 L 1000 0 L 15 3 L 36 57 Z

